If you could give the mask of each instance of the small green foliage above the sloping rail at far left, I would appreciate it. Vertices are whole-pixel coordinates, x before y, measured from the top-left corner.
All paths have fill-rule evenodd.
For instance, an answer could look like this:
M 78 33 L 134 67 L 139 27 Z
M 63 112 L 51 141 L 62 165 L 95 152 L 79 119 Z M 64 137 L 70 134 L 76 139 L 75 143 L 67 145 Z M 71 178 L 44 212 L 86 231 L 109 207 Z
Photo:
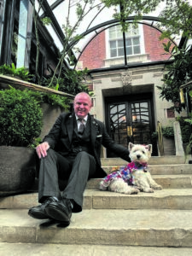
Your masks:
M 32 79 L 32 75 L 28 72 L 26 67 L 16 68 L 14 63 L 12 63 L 11 66 L 6 64 L 0 66 L 0 74 L 20 77 L 20 79 L 24 81 L 29 81 Z

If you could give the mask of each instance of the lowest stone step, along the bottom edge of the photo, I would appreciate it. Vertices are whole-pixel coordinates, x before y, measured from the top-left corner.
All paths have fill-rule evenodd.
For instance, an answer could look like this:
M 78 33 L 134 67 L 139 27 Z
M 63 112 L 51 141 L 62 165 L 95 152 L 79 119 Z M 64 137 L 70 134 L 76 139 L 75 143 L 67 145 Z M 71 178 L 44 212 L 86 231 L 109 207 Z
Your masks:
M 14 252 L 14 253 L 13 253 Z M 191 247 L 127 247 L 127 246 L 100 246 L 100 245 L 63 245 L 42 243 L 7 243 L 0 242 L 0 255 L 51 255 L 51 256 L 189 256 Z

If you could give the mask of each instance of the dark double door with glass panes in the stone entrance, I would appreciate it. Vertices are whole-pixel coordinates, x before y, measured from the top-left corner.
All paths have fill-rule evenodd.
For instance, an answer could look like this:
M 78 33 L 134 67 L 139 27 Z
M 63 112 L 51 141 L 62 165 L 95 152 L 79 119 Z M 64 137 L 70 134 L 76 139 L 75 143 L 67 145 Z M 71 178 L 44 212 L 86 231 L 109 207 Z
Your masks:
M 106 98 L 108 134 L 125 148 L 130 142 L 153 144 L 153 155 L 157 155 L 157 145 L 151 136 L 154 131 L 152 107 L 150 95 Z M 110 151 L 107 156 L 116 157 Z

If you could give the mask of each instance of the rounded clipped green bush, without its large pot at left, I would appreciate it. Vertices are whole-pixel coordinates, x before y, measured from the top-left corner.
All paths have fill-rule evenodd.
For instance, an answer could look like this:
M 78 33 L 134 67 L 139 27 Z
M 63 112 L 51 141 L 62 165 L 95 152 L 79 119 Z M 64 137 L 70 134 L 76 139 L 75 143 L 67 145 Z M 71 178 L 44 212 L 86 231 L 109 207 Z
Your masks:
M 31 90 L 0 91 L 0 145 L 27 146 L 42 128 L 39 95 Z

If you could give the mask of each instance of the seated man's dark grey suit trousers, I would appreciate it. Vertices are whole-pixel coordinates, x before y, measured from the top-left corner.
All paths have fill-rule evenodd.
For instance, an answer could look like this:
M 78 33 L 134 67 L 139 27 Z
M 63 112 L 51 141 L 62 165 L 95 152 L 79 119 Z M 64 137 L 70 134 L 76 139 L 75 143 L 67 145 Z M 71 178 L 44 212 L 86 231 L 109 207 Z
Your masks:
M 65 197 L 73 201 L 73 212 L 81 212 L 87 180 L 95 172 L 96 160 L 87 152 L 64 157 L 49 148 L 39 163 L 38 201 L 42 203 L 48 196 Z M 62 191 L 60 181 L 67 181 Z

